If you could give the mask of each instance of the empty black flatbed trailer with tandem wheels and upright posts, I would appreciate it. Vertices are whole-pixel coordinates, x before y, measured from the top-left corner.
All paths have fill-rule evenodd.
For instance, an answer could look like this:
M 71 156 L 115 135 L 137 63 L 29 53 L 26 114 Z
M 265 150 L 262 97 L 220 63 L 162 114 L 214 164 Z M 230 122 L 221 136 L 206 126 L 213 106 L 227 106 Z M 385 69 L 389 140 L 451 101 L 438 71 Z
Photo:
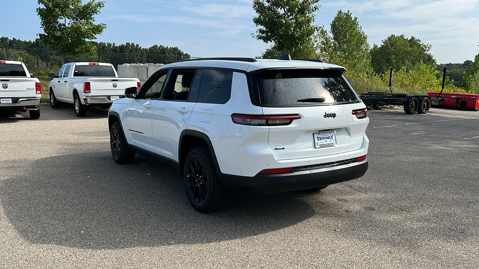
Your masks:
M 430 97 L 427 94 L 405 94 L 405 93 L 393 93 L 391 89 L 392 68 L 389 72 L 389 90 L 391 93 L 384 92 L 363 92 L 359 96 L 366 105 L 367 109 L 382 109 L 385 105 L 402 105 L 404 112 L 407 114 L 414 114 L 416 112 L 425 114 L 431 108 L 431 104 L 439 105 L 441 101 L 447 101 L 443 99 L 441 93 L 444 90 L 444 83 L 446 78 L 446 68 L 444 67 L 443 74 L 443 87 L 438 98 Z

